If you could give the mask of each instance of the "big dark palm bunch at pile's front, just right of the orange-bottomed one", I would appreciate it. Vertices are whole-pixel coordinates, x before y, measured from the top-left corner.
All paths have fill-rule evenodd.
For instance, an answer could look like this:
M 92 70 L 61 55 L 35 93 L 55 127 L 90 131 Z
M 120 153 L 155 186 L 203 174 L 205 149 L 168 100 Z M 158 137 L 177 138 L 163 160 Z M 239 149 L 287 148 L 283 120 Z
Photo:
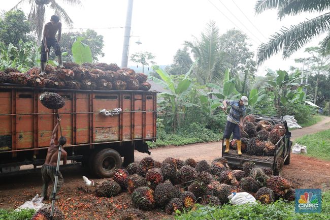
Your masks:
M 171 199 L 177 195 L 177 189 L 173 186 L 171 181 L 166 180 L 163 183 L 159 183 L 154 192 L 156 204 L 160 207 L 165 206 Z

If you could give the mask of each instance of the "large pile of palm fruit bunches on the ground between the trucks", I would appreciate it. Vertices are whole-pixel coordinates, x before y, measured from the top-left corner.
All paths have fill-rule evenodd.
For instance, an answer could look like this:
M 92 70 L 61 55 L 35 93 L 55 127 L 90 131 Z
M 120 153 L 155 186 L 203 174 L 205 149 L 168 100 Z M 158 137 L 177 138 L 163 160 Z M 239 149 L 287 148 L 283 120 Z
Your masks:
M 95 190 L 99 197 L 116 196 L 120 192 L 128 192 L 133 204 L 141 210 L 157 208 L 168 214 L 189 210 L 196 203 L 223 205 L 234 192 L 250 193 L 263 204 L 278 199 L 294 200 L 290 182 L 273 176 L 271 169 L 257 168 L 246 162 L 243 170 L 230 170 L 224 158 L 209 164 L 205 160 L 174 158 L 159 163 L 146 157 L 139 163 L 129 164 L 126 169 L 118 169 L 112 179 Z

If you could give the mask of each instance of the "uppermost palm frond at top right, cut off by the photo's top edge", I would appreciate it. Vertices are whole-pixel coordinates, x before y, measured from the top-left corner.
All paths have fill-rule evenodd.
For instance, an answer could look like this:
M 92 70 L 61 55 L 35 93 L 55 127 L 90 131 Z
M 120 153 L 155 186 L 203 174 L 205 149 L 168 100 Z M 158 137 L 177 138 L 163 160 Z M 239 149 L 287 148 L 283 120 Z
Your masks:
M 278 8 L 278 18 L 286 15 L 297 15 L 302 12 L 322 12 L 330 9 L 330 0 L 292 0 L 286 1 Z

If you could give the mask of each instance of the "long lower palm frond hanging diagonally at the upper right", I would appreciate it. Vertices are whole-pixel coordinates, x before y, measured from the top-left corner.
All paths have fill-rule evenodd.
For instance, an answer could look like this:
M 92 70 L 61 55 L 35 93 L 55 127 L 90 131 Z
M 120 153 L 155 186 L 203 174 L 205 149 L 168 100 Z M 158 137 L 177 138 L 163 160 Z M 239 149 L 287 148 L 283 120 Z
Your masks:
M 257 64 L 283 49 L 283 58 L 300 49 L 312 38 L 327 32 L 330 28 L 330 13 L 301 22 L 290 28 L 281 28 L 280 33 L 271 36 L 268 43 L 262 43 L 257 50 Z

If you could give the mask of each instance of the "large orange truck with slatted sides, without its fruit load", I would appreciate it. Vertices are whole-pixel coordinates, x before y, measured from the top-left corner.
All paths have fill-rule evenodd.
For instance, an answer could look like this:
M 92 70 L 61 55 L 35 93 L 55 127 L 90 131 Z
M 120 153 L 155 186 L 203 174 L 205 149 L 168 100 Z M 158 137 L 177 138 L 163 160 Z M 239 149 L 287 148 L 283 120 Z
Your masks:
M 149 153 L 146 141 L 156 139 L 156 91 L 71 90 L 0 85 L 0 176 L 40 166 L 46 158 L 56 112 L 39 96 L 56 92 L 65 99 L 58 110 L 68 160 L 81 162 L 99 177 L 109 177 L 134 162 L 135 149 Z M 100 110 L 121 108 L 118 115 Z M 59 136 L 59 131 L 58 135 Z

